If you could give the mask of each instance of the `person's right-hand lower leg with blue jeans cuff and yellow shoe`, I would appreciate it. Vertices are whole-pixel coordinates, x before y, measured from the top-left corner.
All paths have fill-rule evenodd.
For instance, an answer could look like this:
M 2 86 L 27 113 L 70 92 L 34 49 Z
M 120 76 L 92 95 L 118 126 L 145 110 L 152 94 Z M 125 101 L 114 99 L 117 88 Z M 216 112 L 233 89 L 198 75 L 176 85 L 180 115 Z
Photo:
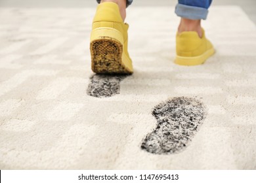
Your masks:
M 205 37 L 201 20 L 205 20 L 211 0 L 179 0 L 175 8 L 181 17 L 176 37 L 179 65 L 200 65 L 215 52 L 213 45 Z

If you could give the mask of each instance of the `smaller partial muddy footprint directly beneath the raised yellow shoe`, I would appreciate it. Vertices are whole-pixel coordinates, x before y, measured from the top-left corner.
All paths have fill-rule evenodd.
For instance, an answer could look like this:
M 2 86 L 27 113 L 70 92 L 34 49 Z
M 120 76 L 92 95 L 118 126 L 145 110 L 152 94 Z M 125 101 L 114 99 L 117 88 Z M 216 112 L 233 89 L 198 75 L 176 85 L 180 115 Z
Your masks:
M 120 93 L 120 82 L 127 75 L 93 75 L 87 88 L 92 97 L 112 97 Z

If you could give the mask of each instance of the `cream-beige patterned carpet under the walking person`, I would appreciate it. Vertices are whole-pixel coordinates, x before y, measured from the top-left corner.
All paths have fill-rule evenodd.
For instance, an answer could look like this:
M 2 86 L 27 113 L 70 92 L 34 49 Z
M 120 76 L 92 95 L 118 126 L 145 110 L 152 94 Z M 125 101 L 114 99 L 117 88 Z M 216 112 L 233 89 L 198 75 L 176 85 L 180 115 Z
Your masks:
M 135 73 L 104 78 L 90 69 L 93 8 L 1 8 L 0 169 L 256 169 L 256 29 L 243 10 L 211 7 L 217 53 L 197 67 L 173 63 L 173 7 L 127 11 Z M 203 106 L 200 128 L 180 151 L 147 152 L 163 119 L 152 110 L 174 97 Z

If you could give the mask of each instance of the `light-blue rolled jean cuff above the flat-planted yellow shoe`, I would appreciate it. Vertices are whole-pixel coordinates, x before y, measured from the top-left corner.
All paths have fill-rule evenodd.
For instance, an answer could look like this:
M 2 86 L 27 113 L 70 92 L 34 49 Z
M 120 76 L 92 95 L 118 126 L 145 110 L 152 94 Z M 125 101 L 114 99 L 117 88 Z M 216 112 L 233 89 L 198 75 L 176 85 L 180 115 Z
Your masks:
M 175 13 L 177 16 L 190 20 L 205 20 L 207 18 L 208 10 L 207 8 L 178 4 L 175 8 Z

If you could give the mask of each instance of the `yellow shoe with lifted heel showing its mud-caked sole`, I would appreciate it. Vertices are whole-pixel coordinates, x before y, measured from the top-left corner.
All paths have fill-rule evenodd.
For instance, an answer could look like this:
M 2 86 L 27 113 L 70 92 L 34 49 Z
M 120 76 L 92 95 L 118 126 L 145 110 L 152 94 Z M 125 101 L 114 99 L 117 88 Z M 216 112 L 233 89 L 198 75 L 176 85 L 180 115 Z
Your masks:
M 91 67 L 95 73 L 131 74 L 127 51 L 129 25 L 124 24 L 116 3 L 98 5 L 91 31 Z

